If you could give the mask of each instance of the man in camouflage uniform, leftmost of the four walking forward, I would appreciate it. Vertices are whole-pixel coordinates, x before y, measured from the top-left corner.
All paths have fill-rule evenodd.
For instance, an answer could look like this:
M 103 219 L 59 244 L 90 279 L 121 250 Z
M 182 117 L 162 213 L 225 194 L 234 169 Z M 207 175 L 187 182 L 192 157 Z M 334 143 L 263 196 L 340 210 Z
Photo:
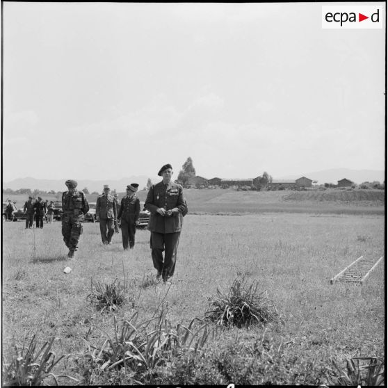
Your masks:
M 89 204 L 85 194 L 76 190 L 78 185 L 76 181 L 69 179 L 65 181 L 65 185 L 67 191 L 62 194 L 62 235 L 69 248 L 67 257 L 72 259 L 77 250 L 79 236 L 82 234 L 82 223 L 89 211 Z

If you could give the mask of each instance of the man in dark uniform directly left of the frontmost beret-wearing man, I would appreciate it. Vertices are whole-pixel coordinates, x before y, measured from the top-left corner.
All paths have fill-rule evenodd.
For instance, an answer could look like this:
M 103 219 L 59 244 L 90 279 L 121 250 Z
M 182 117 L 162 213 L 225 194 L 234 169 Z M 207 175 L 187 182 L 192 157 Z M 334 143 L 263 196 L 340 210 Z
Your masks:
M 140 218 L 140 200 L 135 193 L 138 191 L 138 184 L 127 186 L 127 195 L 122 197 L 118 218 L 121 223 L 122 246 L 124 250 L 135 246 L 136 225 Z

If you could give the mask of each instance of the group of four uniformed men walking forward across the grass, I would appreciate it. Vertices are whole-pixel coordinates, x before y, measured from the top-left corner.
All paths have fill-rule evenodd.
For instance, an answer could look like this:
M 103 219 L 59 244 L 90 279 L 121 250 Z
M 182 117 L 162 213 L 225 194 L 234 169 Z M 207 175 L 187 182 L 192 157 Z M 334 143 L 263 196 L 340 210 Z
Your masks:
M 172 166 L 165 164 L 158 175 L 162 181 L 152 185 L 147 193 L 145 209 L 151 214 L 147 229 L 151 232 L 150 248 L 152 262 L 156 268 L 156 278 L 168 282 L 175 272 L 177 248 L 183 217 L 187 213 L 181 185 L 172 182 Z M 82 223 L 89 211 L 88 200 L 82 191 L 77 191 L 77 182 L 73 179 L 65 181 L 67 191 L 62 195 L 62 234 L 63 241 L 69 252 L 67 257 L 74 259 L 78 248 L 79 237 L 82 234 Z M 133 249 L 135 245 L 136 225 L 140 218 L 140 201 L 135 195 L 138 184 L 129 184 L 118 210 L 118 200 L 111 195 L 108 185 L 104 193 L 97 197 L 96 218 L 103 244 L 111 244 L 112 236 L 120 220 L 122 231 L 122 246 L 124 250 Z M 118 232 L 118 229 L 116 229 Z M 164 257 L 163 257 L 163 251 Z

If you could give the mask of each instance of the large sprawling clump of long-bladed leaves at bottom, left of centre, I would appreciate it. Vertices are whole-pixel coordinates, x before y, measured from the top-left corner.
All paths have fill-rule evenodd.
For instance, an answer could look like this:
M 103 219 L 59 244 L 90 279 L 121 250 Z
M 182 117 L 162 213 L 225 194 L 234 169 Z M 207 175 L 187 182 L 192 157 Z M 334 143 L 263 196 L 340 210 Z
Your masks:
M 197 351 L 207 341 L 209 331 L 207 323 L 199 318 L 194 318 L 188 328 L 184 325 L 177 325 L 172 328 L 170 323 L 163 318 L 163 308 L 158 317 L 141 323 L 137 322 L 138 312 L 119 328 L 114 316 L 114 334 L 109 336 L 106 332 L 106 339 L 102 346 L 92 346 L 87 340 L 88 349 L 83 357 L 77 362 L 81 374 L 88 378 L 95 371 L 96 375 L 115 375 L 115 383 L 131 382 L 138 384 L 136 379 L 143 378 L 156 366 L 170 362 L 181 349 Z M 148 326 L 154 321 L 156 324 L 153 330 Z M 195 329 L 195 322 L 200 321 L 202 325 Z M 102 330 L 103 331 L 103 330 Z M 123 375 L 127 380 L 118 379 L 118 371 L 124 369 Z

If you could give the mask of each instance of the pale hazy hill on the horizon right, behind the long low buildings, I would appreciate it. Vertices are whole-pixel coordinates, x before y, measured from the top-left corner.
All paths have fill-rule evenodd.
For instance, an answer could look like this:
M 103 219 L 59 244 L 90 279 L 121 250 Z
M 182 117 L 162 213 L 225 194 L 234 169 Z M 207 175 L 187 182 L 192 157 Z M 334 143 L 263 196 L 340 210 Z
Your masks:
M 307 177 L 313 181 L 318 181 L 318 184 L 332 183 L 337 184 L 337 181 L 346 178 L 356 184 L 362 184 L 365 181 L 380 181 L 385 180 L 384 170 L 350 170 L 349 168 L 333 168 L 331 170 L 322 170 L 314 172 L 305 172 L 300 175 L 287 175 L 283 177 L 273 177 L 273 179 L 298 179 Z

